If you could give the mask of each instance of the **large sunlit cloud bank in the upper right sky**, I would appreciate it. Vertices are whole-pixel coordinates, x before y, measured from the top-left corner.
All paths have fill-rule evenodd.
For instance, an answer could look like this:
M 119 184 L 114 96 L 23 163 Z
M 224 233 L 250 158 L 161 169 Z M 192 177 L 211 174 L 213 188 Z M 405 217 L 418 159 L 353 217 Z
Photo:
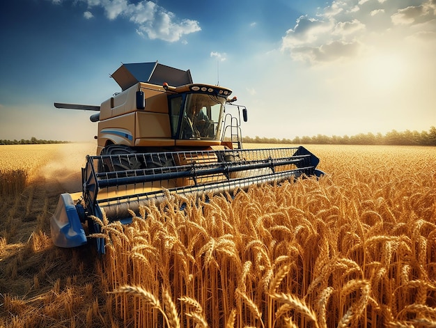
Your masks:
M 281 50 L 295 60 L 328 63 L 355 58 L 380 42 L 392 45 L 398 40 L 401 46 L 400 36 L 416 33 L 426 37 L 436 33 L 435 0 L 360 0 L 357 5 L 338 0 L 316 17 L 299 17 L 282 38 Z

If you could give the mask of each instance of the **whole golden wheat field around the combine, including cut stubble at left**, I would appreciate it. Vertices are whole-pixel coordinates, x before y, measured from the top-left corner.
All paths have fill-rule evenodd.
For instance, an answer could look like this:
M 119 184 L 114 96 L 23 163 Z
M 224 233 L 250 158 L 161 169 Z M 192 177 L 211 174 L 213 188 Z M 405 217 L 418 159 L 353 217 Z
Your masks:
M 327 176 L 103 219 L 101 258 L 53 247 L 37 180 L 1 205 L 0 327 L 435 327 L 436 149 L 307 148 Z

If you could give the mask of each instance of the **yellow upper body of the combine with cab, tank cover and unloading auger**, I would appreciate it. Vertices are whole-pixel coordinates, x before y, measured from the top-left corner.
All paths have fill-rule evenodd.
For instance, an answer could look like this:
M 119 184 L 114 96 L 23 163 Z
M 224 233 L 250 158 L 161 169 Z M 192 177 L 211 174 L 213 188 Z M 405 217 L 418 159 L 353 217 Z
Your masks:
M 224 109 L 235 101 L 230 89 L 193 84 L 189 70 L 157 62 L 123 64 L 111 77 L 122 92 L 100 107 L 54 104 L 99 111 L 91 116 L 91 121 L 98 122 L 97 155 L 224 145 Z

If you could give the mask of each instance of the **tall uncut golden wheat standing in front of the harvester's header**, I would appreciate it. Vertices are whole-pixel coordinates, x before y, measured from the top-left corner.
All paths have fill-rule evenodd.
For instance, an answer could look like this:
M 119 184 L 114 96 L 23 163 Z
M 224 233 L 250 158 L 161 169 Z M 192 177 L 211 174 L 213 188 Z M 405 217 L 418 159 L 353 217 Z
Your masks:
M 428 286 L 435 267 L 428 247 L 435 242 L 428 237 L 435 225 L 435 165 L 423 166 L 422 157 L 412 155 L 389 165 L 373 156 L 375 149 L 344 154 L 361 158 L 354 168 L 343 158 L 328 157 L 327 162 L 334 159 L 325 164 L 329 176 L 320 180 L 255 187 L 232 201 L 216 196 L 197 203 L 185 197 L 144 208 L 147 219 L 134 219 L 143 227 L 111 247 L 108 258 L 116 262 L 105 265 L 114 272 L 112 286 L 140 283 L 157 291 L 157 283 L 164 283 L 179 295 L 174 306 L 180 322 L 210 327 L 404 322 L 398 314 L 406 306 L 415 301 L 428 306 L 433 299 Z M 383 151 L 398 159 L 401 151 L 410 153 L 397 149 Z M 430 159 L 432 149 L 426 150 L 423 157 Z M 182 202 L 184 211 L 178 208 Z M 114 234 L 110 226 L 104 231 L 113 243 L 122 232 Z M 134 276 L 111 265 L 129 263 L 129 254 L 139 251 L 143 258 L 132 263 Z M 198 312 L 192 306 L 201 314 L 193 315 Z M 393 317 L 384 315 L 386 307 Z M 137 311 L 124 311 L 125 319 Z M 146 321 L 139 324 L 153 326 L 145 314 L 141 318 Z

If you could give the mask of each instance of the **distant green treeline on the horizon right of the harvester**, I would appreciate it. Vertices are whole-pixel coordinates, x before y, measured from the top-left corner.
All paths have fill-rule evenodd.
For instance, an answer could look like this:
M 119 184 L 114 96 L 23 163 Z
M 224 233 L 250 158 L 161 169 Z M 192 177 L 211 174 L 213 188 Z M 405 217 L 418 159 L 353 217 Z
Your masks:
M 436 146 L 436 127 L 430 127 L 429 131 L 417 132 L 406 130 L 398 132 L 392 130 L 387 134 L 360 133 L 354 136 L 296 136 L 294 139 L 250 138 L 243 137 L 244 143 L 309 143 L 322 145 L 396 145 L 396 146 Z

